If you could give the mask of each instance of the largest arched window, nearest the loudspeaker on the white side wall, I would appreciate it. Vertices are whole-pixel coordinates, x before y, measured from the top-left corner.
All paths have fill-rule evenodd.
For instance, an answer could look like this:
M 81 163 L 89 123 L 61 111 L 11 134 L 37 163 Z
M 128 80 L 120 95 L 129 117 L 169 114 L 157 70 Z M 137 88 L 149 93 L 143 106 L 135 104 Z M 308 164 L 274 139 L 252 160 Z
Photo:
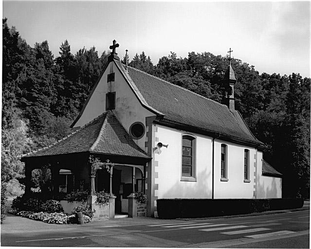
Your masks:
M 183 136 L 182 149 L 182 180 L 194 180 L 196 173 L 196 139 Z

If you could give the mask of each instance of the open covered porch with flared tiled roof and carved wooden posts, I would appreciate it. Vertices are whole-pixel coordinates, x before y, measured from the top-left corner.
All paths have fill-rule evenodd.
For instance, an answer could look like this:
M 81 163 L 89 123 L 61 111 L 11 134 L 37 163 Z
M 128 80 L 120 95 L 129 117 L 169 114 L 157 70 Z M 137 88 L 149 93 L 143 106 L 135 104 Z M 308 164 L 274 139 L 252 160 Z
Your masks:
M 104 167 L 94 166 L 91 158 L 99 160 Z M 146 163 L 151 158 L 108 111 L 72 135 L 24 155 L 21 160 L 25 162 L 26 196 L 32 194 L 32 172 L 45 168 L 51 176 L 46 189 L 49 198 L 61 199 L 81 190 L 88 192 L 92 205 L 95 194 L 105 191 L 115 196 L 111 200 L 113 216 L 114 213 L 132 216 L 135 215 L 133 193 L 146 193 Z

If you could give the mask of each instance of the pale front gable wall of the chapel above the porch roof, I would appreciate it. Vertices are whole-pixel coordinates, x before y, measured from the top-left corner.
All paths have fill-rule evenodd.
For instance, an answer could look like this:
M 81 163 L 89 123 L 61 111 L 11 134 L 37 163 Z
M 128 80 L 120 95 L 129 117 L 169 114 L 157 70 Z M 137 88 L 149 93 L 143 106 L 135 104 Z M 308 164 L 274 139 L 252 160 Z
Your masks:
M 115 73 L 113 91 L 116 92 L 116 104 L 113 112 L 127 131 L 130 125 L 135 122 L 141 122 L 146 126 L 146 117 L 155 115 L 141 105 L 117 66 L 114 63 L 110 63 L 99 80 L 83 114 L 74 127 L 83 126 L 106 111 L 106 93 L 108 92 L 107 74 L 111 72 Z M 146 132 L 144 137 L 134 141 L 142 149 L 145 149 Z

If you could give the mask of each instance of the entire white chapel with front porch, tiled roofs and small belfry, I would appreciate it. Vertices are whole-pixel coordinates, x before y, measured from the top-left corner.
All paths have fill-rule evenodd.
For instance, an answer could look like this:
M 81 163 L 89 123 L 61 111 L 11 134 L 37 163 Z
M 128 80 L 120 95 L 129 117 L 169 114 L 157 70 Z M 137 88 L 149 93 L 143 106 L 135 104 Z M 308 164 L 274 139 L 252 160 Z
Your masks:
M 75 131 L 22 157 L 26 193 L 32 170 L 49 164 L 55 195 L 105 189 L 116 196 L 116 213 L 128 213 L 134 191 L 146 193 L 147 216 L 157 215 L 160 198 L 282 197 L 282 175 L 263 160 L 265 145 L 235 109 L 230 60 L 220 104 L 123 65 L 115 41 L 111 47 Z M 113 173 L 92 172 L 90 155 L 110 160 Z

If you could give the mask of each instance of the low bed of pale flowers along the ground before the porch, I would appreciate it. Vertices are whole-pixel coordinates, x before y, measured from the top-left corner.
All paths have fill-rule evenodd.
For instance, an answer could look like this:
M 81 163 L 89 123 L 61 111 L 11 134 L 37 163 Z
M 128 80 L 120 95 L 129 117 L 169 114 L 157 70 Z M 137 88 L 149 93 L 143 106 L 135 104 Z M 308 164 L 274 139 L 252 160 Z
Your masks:
M 72 224 L 76 223 L 75 215 L 67 215 L 65 213 L 34 213 L 32 211 L 18 211 L 16 209 L 10 210 L 8 213 L 15 214 L 24 218 L 43 221 L 45 223 L 52 224 Z M 83 215 L 84 223 L 91 222 L 92 219 L 89 216 Z

